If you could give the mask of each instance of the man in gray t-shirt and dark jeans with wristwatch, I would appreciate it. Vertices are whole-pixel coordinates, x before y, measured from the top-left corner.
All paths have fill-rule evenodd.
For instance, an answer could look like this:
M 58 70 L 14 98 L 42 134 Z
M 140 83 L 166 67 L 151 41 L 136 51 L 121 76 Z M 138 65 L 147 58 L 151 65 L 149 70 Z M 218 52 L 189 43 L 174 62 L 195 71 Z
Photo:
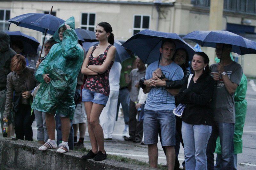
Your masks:
M 210 66 L 211 76 L 216 82 L 213 93 L 213 124 L 212 135 L 209 139 L 206 155 L 207 168 L 214 169 L 214 155 L 216 139 L 220 136 L 221 168 L 233 169 L 234 167 L 234 130 L 235 130 L 235 101 L 234 94 L 240 84 L 243 69 L 240 64 L 230 58 L 232 46 L 229 44 L 216 44 L 216 55 L 220 63 Z M 222 54 L 222 56 L 221 56 Z

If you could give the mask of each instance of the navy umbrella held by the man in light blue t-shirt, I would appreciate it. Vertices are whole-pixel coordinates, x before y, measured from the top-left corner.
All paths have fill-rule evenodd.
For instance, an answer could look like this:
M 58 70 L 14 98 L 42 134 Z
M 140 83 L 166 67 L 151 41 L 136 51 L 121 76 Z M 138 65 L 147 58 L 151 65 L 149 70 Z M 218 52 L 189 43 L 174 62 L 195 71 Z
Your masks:
M 173 40 L 176 44 L 176 49 L 185 48 L 188 51 L 189 60 L 192 60 L 195 49 L 176 33 L 163 33 L 145 29 L 133 35 L 122 46 L 138 55 L 143 63 L 149 64 L 159 60 L 159 55 L 161 55 L 159 48 L 161 48 L 162 40 L 165 38 Z

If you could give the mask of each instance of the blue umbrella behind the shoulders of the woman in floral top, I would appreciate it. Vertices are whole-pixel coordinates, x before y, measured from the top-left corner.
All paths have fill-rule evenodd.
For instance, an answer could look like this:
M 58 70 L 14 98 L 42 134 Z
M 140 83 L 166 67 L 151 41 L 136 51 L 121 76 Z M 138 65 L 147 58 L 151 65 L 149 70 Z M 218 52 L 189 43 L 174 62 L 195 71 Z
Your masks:
M 98 45 L 99 42 L 84 42 L 83 47 L 88 52 L 89 48 Z M 131 56 L 129 53 L 125 50 L 124 47 L 121 46 L 121 43 L 119 41 L 115 40 L 114 46 L 116 47 L 116 59 L 115 62 L 122 63 L 124 60 L 130 58 Z

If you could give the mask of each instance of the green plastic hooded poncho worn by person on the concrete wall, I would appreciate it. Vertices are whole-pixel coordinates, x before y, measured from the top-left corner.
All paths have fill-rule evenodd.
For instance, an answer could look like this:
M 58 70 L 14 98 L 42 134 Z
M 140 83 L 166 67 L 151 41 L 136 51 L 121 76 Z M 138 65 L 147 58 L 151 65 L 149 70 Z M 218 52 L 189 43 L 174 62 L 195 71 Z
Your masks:
M 64 31 L 63 39 L 60 41 L 58 30 L 64 24 L 69 25 L 71 29 Z M 68 18 L 61 26 L 53 35 L 53 39 L 59 43 L 52 46 L 46 59 L 36 71 L 36 80 L 42 84 L 31 107 L 38 111 L 62 114 L 73 119 L 77 75 L 83 63 L 84 51 L 77 44 L 77 35 L 74 30 L 75 18 Z M 42 77 L 45 73 L 49 73 L 52 79 L 49 83 L 46 83 Z

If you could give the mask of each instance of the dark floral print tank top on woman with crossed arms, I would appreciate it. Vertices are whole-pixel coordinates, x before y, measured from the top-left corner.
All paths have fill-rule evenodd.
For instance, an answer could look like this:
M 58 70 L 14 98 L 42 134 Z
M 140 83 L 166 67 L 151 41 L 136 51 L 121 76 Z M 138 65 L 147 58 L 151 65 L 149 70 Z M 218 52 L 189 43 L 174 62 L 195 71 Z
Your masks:
M 92 49 L 92 53 L 89 56 L 89 65 L 102 65 L 104 60 L 107 57 L 108 49 L 112 45 L 110 44 L 103 54 L 99 55 L 98 57 L 93 57 L 92 53 L 96 49 L 97 46 L 94 46 Z M 109 96 L 110 88 L 109 88 L 109 71 L 113 65 L 113 61 L 111 61 L 110 65 L 108 66 L 108 69 L 98 75 L 87 75 L 86 82 L 84 84 L 84 89 L 91 90 L 93 92 L 104 94 L 105 96 Z

